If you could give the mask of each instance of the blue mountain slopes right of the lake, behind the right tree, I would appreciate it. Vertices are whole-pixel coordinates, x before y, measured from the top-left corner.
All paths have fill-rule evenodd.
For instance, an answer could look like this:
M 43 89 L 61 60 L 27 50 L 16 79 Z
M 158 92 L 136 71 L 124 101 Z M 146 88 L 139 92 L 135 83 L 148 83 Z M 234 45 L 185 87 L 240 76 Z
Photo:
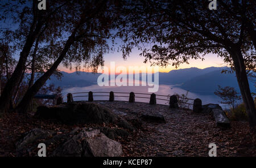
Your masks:
M 218 85 L 221 87 L 234 87 L 237 92 L 240 92 L 236 74 L 221 73 L 222 70 L 230 71 L 230 68 L 208 67 L 200 69 L 192 67 L 172 70 L 168 73 L 160 73 L 159 83 L 177 84 L 177 87 L 197 94 L 214 94 L 214 91 L 218 89 Z M 249 78 L 249 84 L 251 92 L 255 92 L 255 80 L 253 81 Z

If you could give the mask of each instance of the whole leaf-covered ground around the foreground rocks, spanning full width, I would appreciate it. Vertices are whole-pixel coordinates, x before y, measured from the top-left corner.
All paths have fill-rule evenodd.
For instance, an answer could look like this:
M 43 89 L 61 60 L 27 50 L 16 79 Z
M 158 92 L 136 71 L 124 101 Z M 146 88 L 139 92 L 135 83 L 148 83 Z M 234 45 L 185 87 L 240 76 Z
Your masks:
M 207 157 L 210 143 L 217 145 L 217 156 L 256 156 L 256 137 L 250 133 L 247 122 L 231 122 L 230 128 L 222 128 L 216 126 L 210 114 L 169 109 L 166 105 L 125 101 L 94 103 L 108 107 L 134 129 L 116 122 L 63 124 L 55 119 L 39 119 L 33 114 L 7 114 L 0 118 L 0 156 L 19 156 L 17 142 L 34 128 L 55 132 L 52 138 L 62 134 L 65 137 L 77 127 L 97 128 L 109 139 L 121 143 L 122 156 Z M 56 144 L 51 143 L 48 151 L 56 148 Z M 24 156 L 35 156 L 35 153 L 30 150 Z

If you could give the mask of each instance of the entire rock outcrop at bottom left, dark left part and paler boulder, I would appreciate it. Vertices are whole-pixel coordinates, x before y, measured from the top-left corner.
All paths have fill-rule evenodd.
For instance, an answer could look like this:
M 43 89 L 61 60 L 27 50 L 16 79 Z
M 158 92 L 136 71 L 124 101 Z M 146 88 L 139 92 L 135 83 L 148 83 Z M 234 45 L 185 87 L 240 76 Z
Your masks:
M 36 132 L 36 133 L 31 133 Z M 41 133 L 46 133 L 42 136 Z M 93 128 L 75 128 L 71 132 L 51 133 L 39 128 L 26 133 L 23 139 L 16 143 L 19 156 L 27 156 L 33 151 L 37 151 L 37 143 L 46 144 L 46 147 L 53 146 L 52 150 L 47 150 L 47 156 L 53 157 L 119 157 L 122 155 L 122 145 L 117 141 L 109 139 L 100 130 Z M 39 136 L 40 135 L 40 136 Z M 36 156 L 36 152 L 34 155 Z

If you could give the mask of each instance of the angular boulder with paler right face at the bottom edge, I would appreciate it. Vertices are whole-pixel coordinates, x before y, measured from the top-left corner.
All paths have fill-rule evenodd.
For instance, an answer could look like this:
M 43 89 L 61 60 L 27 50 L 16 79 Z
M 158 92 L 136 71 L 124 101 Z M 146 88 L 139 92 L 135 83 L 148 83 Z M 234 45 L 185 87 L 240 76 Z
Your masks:
M 100 130 L 82 128 L 71 139 L 57 147 L 52 156 L 96 156 L 118 157 L 122 155 L 122 146 L 117 141 L 111 140 Z

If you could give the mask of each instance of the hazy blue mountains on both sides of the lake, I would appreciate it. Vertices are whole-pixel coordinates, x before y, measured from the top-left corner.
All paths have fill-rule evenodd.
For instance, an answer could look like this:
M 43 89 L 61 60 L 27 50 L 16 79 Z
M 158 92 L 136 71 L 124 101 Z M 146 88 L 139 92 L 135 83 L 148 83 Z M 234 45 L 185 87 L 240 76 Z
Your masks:
M 176 87 L 197 94 L 213 94 L 218 85 L 234 87 L 239 92 L 236 75 L 229 73 L 221 74 L 222 70 L 230 70 L 230 68 L 208 67 L 200 69 L 192 67 L 172 70 L 168 73 L 159 72 L 159 84 L 176 85 Z M 92 72 L 61 73 L 63 77 L 60 80 L 52 76 L 47 82 L 63 88 L 86 87 L 97 84 L 97 77 L 101 75 Z M 249 79 L 249 83 L 251 92 L 255 92 L 255 81 Z

